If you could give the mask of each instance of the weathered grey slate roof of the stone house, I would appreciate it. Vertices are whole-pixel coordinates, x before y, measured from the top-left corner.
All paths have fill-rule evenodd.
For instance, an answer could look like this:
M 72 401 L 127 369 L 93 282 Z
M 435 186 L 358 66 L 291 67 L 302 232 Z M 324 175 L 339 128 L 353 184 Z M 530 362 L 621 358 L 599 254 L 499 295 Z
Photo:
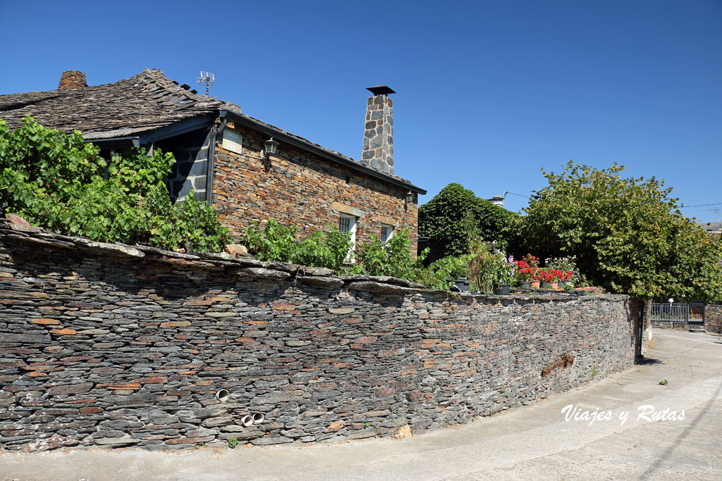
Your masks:
M 168 79 L 157 69 L 143 69 L 140 74 L 130 79 L 110 84 L 0 95 L 0 119 L 5 120 L 10 130 L 20 127 L 22 118 L 30 115 L 40 125 L 48 128 L 56 128 L 66 133 L 81 131 L 88 140 L 134 136 L 141 132 L 155 131 L 180 120 L 217 115 L 220 110 L 234 112 L 252 123 L 271 128 L 303 144 L 339 157 L 342 162 L 357 164 L 357 169 L 378 172 L 349 156 L 245 115 L 241 113 L 238 105 L 193 94 L 179 87 L 178 82 Z M 408 184 L 419 193 L 426 193 L 426 190 L 412 185 L 402 177 L 379 173 L 383 177 L 391 177 Z

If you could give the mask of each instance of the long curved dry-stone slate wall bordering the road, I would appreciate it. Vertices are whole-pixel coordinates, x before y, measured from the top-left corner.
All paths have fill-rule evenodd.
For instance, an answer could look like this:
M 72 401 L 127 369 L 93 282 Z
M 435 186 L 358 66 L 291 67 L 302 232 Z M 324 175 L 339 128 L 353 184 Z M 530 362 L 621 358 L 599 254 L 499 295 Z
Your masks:
M 449 294 L 3 221 L 0 444 L 179 449 L 457 425 L 628 368 L 638 318 L 627 296 Z

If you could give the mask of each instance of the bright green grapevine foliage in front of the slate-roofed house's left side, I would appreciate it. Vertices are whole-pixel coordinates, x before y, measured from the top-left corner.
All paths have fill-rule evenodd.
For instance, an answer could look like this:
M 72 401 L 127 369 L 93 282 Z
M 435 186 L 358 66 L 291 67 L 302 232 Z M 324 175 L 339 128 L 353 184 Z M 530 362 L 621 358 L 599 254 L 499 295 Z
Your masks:
M 136 150 L 106 162 L 79 132 L 66 136 L 28 117 L 10 132 L 0 120 L 0 205 L 30 224 L 101 242 L 222 250 L 216 212 L 193 193 L 173 205 L 165 185 L 172 154 Z

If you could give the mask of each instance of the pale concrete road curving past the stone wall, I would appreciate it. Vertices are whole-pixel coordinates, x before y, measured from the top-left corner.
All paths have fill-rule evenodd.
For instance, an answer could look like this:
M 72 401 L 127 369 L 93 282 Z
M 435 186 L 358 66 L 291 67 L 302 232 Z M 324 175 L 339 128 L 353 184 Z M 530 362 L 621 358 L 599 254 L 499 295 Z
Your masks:
M 646 363 L 630 371 L 463 428 L 401 440 L 185 454 L 4 453 L 0 480 L 720 480 L 722 337 L 655 335 Z M 612 419 L 566 421 L 567 405 L 582 414 L 611 412 Z M 640 412 L 645 405 L 653 408 Z M 639 418 L 664 410 L 665 420 Z

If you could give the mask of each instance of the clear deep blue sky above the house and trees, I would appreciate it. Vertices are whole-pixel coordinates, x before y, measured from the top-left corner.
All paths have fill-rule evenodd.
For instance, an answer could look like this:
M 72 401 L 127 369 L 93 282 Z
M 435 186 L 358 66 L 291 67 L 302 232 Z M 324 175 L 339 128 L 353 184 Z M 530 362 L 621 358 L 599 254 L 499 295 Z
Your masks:
M 450 182 L 529 195 L 569 159 L 722 203 L 721 0 L 2 1 L 0 19 L 0 94 L 202 69 L 212 96 L 355 159 L 365 87 L 388 85 L 422 203 Z

